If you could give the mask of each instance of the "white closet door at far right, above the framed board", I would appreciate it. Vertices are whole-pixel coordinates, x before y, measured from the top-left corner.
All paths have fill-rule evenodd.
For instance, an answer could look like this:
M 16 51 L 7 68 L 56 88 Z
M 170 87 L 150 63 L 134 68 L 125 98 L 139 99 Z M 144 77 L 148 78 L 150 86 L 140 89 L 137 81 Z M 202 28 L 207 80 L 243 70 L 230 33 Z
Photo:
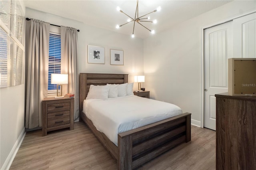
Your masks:
M 255 58 L 256 13 L 233 20 L 234 58 Z

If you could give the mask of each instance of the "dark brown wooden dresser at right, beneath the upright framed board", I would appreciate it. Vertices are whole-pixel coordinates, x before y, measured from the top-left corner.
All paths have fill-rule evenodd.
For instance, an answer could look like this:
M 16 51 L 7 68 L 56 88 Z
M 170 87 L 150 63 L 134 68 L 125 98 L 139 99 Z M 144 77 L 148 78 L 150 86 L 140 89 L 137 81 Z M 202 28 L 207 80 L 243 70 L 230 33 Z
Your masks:
M 216 170 L 255 170 L 256 97 L 215 97 Z

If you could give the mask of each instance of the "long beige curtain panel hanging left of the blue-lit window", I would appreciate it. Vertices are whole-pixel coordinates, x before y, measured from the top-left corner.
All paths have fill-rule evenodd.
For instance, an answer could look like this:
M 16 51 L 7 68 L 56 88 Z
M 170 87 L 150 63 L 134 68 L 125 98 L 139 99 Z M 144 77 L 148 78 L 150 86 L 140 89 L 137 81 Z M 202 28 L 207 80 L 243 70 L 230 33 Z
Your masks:
M 26 115 L 25 127 L 42 127 L 42 99 L 48 91 L 50 23 L 26 22 Z

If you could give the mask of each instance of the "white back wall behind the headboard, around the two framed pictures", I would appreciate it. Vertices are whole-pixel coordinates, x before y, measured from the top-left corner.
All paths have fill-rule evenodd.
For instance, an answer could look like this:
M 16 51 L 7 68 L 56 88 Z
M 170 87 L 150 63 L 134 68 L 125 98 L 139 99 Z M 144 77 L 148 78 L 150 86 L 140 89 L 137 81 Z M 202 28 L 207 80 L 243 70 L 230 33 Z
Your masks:
M 79 73 L 128 73 L 129 82 L 134 81 L 134 75 L 143 73 L 142 39 L 132 39 L 127 35 L 96 28 L 76 20 L 46 14 L 30 8 L 26 8 L 26 17 L 80 30 L 80 32 L 78 32 L 77 92 Z M 113 29 L 115 29 L 114 26 Z M 105 64 L 88 63 L 88 45 L 105 48 Z M 124 65 L 110 65 L 110 49 L 124 50 Z M 138 84 L 134 83 L 134 89 L 136 89 L 137 86 Z M 78 105 L 75 106 L 75 111 L 78 114 Z

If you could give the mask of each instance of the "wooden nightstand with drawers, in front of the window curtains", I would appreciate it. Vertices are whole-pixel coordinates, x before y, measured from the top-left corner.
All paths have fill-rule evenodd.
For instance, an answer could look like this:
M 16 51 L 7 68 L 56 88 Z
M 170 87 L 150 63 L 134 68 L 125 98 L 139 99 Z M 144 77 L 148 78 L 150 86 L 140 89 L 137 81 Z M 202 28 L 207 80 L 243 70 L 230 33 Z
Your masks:
M 74 99 L 52 97 L 45 98 L 42 102 L 42 136 L 46 136 L 47 132 L 52 130 L 68 127 L 70 130 L 74 129 Z

